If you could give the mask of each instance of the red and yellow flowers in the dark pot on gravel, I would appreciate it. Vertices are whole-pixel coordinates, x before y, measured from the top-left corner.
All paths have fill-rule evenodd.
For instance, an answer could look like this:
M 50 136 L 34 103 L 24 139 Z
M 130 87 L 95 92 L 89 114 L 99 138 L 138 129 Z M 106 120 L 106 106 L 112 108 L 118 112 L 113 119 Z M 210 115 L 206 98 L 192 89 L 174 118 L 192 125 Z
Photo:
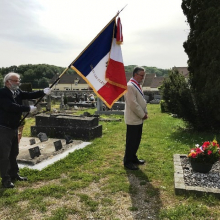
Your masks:
M 195 148 L 190 150 L 188 158 L 198 163 L 215 163 L 220 159 L 220 148 L 216 140 L 205 141 L 202 146 L 196 144 Z

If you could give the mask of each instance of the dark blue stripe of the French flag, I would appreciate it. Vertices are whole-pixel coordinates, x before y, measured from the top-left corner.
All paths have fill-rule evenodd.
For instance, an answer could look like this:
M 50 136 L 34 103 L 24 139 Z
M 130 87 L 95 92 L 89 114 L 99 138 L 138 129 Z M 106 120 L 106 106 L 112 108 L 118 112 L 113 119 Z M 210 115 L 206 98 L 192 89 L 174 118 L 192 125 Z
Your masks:
M 89 45 L 81 56 L 72 64 L 85 77 L 99 63 L 99 61 L 109 53 L 113 39 L 113 20 L 106 29 Z

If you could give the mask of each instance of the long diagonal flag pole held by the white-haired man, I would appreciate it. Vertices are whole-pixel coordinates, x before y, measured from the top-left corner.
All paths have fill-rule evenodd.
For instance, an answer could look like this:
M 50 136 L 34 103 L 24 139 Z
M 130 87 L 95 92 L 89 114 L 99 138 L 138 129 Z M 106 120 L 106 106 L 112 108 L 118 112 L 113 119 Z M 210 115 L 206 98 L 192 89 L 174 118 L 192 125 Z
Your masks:
M 121 11 L 126 7 L 127 5 L 125 5 L 120 11 L 117 12 L 117 14 L 109 21 L 109 23 L 99 32 L 99 34 L 88 44 L 88 46 L 76 57 L 76 59 L 60 74 L 60 76 L 51 84 L 51 86 L 49 87 L 50 89 L 61 79 L 61 77 L 66 73 L 66 71 L 71 67 L 71 65 L 73 65 L 73 63 L 75 63 L 75 61 L 82 55 L 82 53 L 95 41 L 95 39 L 108 27 L 108 25 L 121 13 Z M 45 96 L 42 95 L 37 102 L 34 104 L 34 106 L 36 106 Z M 20 120 L 19 122 L 19 126 L 21 125 L 21 123 L 24 121 L 24 119 L 29 115 L 29 112 L 27 112 L 27 114 Z

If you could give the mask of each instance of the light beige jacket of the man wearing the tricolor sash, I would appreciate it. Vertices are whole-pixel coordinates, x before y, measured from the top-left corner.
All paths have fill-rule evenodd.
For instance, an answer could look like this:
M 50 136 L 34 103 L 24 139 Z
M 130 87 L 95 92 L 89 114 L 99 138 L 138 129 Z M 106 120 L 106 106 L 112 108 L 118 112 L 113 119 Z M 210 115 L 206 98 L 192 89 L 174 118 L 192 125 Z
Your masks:
M 127 84 L 125 96 L 124 119 L 127 125 L 139 125 L 143 123 L 143 117 L 147 114 L 147 103 L 140 92 L 132 85 Z

